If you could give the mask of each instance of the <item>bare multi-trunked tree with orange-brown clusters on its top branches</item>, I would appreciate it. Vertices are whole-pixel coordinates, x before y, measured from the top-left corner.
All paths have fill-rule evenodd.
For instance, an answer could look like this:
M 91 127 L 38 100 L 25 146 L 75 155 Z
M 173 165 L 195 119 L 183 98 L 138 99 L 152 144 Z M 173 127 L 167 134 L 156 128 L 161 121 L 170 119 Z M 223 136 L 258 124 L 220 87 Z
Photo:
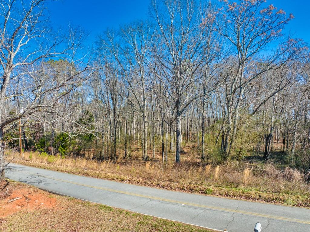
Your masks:
M 210 15 L 209 17 L 214 17 Z M 223 36 L 230 45 L 227 72 L 222 75 L 226 89 L 226 131 L 224 153 L 228 157 L 234 146 L 237 134 L 240 105 L 246 97 L 246 88 L 259 75 L 268 70 L 280 68 L 286 62 L 294 59 L 299 41 L 290 39 L 283 42 L 275 52 L 261 55 L 268 46 L 278 41 L 282 29 L 293 15 L 286 16 L 283 10 L 277 10 L 273 5 L 265 6 L 264 0 L 246 1 L 240 3 L 224 1 L 215 20 L 214 30 Z M 254 70 L 252 65 L 260 62 Z M 249 72 L 251 70 L 251 72 Z M 269 98 L 275 93 L 270 93 Z M 261 106 L 260 104 L 259 106 Z M 258 108 L 255 108 L 256 112 Z

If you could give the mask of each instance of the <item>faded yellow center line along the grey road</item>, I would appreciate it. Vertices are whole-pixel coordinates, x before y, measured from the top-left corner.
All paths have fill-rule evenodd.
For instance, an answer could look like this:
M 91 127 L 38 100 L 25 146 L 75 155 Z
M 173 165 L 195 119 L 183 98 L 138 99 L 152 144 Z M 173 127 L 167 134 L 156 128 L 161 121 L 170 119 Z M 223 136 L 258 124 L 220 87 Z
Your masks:
M 250 216 L 266 217 L 266 218 L 282 220 L 282 221 L 291 221 L 291 222 L 310 224 L 310 221 L 303 221 L 303 220 L 292 219 L 292 218 L 288 218 L 288 217 L 271 216 L 271 215 L 255 213 L 255 212 L 247 212 L 247 211 L 242 211 L 242 210 L 233 210 L 233 209 L 221 208 L 221 207 L 216 207 L 216 206 L 208 206 L 208 205 L 201 205 L 201 204 L 195 204 L 195 203 L 189 203 L 189 202 L 182 202 L 182 201 L 176 201 L 176 200 L 171 200 L 171 199 L 166 199 L 166 198 L 160 198 L 160 197 L 142 195 L 142 194 L 131 193 L 131 192 L 126 192 L 126 191 L 121 191 L 121 190 L 109 189 L 109 188 L 104 188 L 104 187 L 91 186 L 91 185 L 87 185 L 87 184 L 82 184 L 82 183 L 63 180 L 63 179 L 57 179 L 57 178 L 53 178 L 53 177 L 47 177 L 47 176 L 44 176 L 44 177 L 49 178 L 49 179 L 53 179 L 56 181 L 80 185 L 80 186 L 84 186 L 84 187 L 89 187 L 89 188 L 94 188 L 94 189 L 99 189 L 99 190 L 105 190 L 105 191 L 115 192 L 115 193 L 121 193 L 121 194 L 136 196 L 136 197 L 148 198 L 148 199 L 153 199 L 153 200 L 158 200 L 158 201 L 165 201 L 165 202 L 169 202 L 169 203 L 182 204 L 182 205 L 188 205 L 188 206 L 199 207 L 199 208 L 207 208 L 207 209 L 224 211 L 224 212 L 241 213 L 241 214 L 246 214 L 246 215 L 250 215 Z

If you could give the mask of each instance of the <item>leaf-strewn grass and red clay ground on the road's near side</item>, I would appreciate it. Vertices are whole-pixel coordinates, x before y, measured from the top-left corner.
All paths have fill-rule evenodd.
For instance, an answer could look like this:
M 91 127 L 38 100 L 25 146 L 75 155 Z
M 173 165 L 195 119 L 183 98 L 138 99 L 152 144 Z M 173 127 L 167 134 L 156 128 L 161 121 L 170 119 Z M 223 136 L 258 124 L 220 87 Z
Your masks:
M 201 227 L 51 194 L 26 184 L 0 183 L 0 231 L 199 231 Z

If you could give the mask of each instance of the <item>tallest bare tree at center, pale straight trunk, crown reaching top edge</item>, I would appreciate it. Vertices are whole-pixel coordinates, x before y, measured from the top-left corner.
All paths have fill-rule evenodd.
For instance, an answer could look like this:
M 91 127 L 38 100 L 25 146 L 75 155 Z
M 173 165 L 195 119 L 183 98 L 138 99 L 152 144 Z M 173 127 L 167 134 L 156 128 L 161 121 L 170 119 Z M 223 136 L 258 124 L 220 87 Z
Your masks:
M 193 88 L 197 81 L 197 69 L 202 62 L 204 27 L 200 27 L 199 13 L 194 1 L 170 0 L 152 2 L 152 17 L 157 24 L 162 48 L 160 58 L 176 123 L 175 161 L 180 162 L 182 147 L 181 115 L 188 105 L 201 95 Z

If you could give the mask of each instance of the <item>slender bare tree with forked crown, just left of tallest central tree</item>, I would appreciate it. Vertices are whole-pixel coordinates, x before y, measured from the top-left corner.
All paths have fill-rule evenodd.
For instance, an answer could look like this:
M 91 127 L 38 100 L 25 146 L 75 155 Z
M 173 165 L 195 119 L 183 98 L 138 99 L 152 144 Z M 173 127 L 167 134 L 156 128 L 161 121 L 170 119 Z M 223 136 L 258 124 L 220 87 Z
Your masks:
M 105 48 L 114 56 L 126 80 L 126 87 L 134 97 L 127 98 L 136 112 L 143 120 L 143 154 L 142 160 L 147 160 L 147 80 L 148 80 L 148 54 L 153 41 L 153 30 L 147 22 L 136 22 L 124 26 L 119 33 L 120 41 L 111 32 L 107 32 L 106 39 L 102 40 Z

